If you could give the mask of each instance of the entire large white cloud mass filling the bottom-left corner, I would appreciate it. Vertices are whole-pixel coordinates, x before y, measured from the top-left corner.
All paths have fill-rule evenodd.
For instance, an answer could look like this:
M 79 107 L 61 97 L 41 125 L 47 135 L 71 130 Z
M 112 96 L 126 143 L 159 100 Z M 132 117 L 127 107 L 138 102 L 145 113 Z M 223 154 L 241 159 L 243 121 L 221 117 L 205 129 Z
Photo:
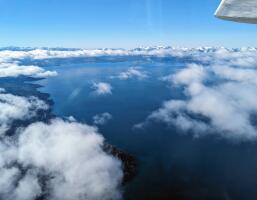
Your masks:
M 104 152 L 94 127 L 62 119 L 37 122 L 19 130 L 16 141 L 0 144 L 0 198 L 121 198 L 121 162 Z

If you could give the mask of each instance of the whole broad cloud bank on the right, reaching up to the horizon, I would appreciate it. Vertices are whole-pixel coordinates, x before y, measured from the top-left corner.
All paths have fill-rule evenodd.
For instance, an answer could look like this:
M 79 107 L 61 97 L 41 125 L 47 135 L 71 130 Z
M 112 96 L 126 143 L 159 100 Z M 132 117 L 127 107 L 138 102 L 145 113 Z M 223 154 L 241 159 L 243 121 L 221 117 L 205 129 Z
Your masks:
M 220 49 L 202 55 L 206 56 L 202 64 L 188 64 L 162 78 L 182 86 L 185 98 L 165 102 L 146 122 L 164 122 L 183 132 L 193 132 L 194 136 L 215 134 L 235 140 L 256 140 L 256 51 Z M 197 61 L 203 59 L 201 53 L 194 56 Z M 210 62 L 205 63 L 207 60 Z

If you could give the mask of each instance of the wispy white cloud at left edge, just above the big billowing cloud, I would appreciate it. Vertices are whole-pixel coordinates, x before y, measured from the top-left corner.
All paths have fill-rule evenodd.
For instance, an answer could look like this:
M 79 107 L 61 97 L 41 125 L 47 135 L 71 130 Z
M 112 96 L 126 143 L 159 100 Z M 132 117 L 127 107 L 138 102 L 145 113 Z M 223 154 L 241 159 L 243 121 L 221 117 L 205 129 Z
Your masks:
M 39 110 L 47 110 L 48 105 L 37 97 L 22 97 L 0 93 L 0 136 L 3 135 L 15 120 L 28 120 L 36 116 Z

